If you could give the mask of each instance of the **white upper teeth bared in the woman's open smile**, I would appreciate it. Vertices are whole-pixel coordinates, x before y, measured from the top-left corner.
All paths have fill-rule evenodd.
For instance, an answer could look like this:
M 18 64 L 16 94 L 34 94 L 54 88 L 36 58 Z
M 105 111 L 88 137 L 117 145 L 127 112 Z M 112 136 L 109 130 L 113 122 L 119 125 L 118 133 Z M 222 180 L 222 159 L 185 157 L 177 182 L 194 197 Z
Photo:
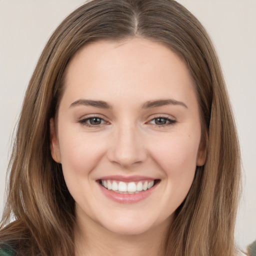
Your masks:
M 122 194 L 135 194 L 139 192 L 146 191 L 153 187 L 155 184 L 160 182 L 160 179 L 153 180 L 141 180 L 141 181 L 132 181 L 124 182 L 110 179 L 99 179 L 99 184 L 106 188 L 107 190 L 114 191 L 116 193 Z

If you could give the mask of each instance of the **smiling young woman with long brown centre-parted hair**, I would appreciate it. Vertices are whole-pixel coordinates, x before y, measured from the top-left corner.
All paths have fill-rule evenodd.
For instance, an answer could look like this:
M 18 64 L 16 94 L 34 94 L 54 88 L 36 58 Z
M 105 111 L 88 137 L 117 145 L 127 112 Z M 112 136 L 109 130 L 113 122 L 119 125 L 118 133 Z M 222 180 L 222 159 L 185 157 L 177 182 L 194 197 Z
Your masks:
M 29 82 L 2 250 L 235 255 L 239 159 L 198 20 L 173 0 L 92 0 L 54 31 Z

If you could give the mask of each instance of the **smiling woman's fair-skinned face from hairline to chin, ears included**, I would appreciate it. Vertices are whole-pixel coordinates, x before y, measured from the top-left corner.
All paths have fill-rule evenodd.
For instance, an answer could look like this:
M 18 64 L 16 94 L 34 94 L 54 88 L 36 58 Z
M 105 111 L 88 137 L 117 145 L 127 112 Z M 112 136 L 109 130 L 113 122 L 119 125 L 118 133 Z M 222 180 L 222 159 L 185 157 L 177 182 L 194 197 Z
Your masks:
M 166 226 L 204 163 L 188 69 L 147 39 L 81 48 L 54 123 L 52 157 L 84 226 L 122 234 Z

